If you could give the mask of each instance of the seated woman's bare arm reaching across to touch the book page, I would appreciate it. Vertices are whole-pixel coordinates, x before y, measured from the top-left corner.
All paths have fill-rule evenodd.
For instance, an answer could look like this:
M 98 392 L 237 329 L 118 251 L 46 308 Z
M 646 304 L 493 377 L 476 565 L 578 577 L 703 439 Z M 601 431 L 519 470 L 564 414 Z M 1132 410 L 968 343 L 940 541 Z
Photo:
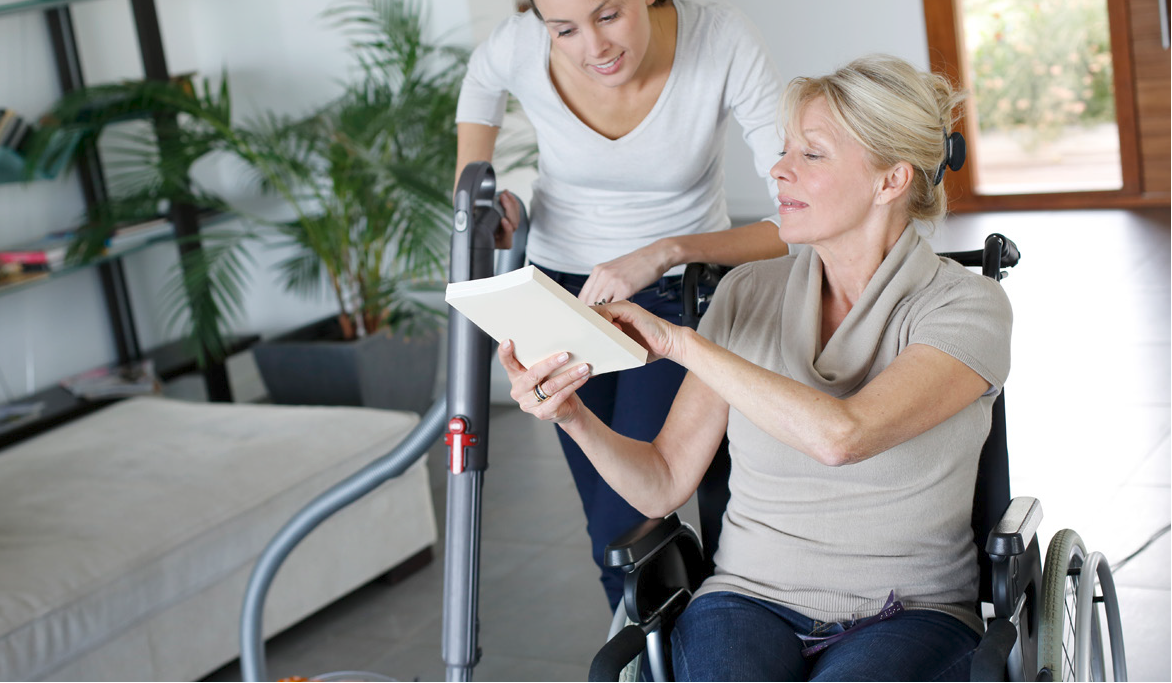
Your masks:
M 632 303 L 606 306 L 600 313 L 619 323 L 653 357 L 667 357 L 687 368 L 689 376 L 710 387 L 759 429 L 830 466 L 865 460 L 919 436 L 989 389 L 981 375 L 953 356 L 926 344 L 911 344 L 857 394 L 834 398 Z

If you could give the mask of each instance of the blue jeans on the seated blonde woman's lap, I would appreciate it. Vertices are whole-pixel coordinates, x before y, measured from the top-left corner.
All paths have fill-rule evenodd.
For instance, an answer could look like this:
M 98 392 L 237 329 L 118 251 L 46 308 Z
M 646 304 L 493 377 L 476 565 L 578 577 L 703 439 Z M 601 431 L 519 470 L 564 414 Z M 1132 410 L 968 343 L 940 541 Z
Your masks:
M 812 657 L 797 634 L 825 624 L 736 593 L 708 593 L 672 631 L 676 681 L 968 681 L 977 634 L 959 619 L 909 609 L 860 628 Z

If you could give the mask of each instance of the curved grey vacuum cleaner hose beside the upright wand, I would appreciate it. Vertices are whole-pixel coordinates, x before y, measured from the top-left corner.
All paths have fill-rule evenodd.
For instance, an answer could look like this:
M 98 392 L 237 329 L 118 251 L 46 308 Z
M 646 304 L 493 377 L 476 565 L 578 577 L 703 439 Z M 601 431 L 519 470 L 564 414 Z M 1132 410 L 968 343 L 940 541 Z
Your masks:
M 339 510 L 403 473 L 428 452 L 443 431 L 448 399 L 441 396 L 423 415 L 411 433 L 393 451 L 314 498 L 298 511 L 265 547 L 248 578 L 240 612 L 240 675 L 245 681 L 265 681 L 265 640 L 261 624 L 265 597 L 277 571 L 309 532 Z

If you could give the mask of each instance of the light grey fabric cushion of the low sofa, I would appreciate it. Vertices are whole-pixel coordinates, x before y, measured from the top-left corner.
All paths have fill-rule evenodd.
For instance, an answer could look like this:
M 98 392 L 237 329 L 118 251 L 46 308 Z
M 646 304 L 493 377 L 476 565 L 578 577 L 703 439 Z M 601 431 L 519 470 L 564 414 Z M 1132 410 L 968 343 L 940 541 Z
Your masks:
M 417 422 L 135 398 L 0 451 L 0 678 L 41 677 L 238 573 Z

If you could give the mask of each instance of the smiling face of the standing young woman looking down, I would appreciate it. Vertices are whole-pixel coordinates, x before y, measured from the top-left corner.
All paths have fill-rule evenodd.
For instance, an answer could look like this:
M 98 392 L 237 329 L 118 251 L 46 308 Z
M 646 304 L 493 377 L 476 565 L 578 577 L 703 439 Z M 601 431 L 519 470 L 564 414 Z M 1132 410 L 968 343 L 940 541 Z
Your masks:
M 550 40 L 570 64 L 602 86 L 628 82 L 652 42 L 653 0 L 537 0 Z

